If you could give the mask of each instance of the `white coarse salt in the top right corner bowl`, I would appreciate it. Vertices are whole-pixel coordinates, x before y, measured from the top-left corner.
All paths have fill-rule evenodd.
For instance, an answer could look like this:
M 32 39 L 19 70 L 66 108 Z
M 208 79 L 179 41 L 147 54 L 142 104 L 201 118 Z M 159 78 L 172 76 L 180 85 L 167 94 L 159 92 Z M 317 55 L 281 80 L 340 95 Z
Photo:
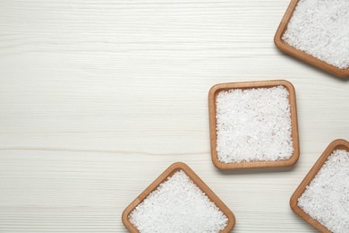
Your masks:
M 349 68 L 349 1 L 300 0 L 283 39 L 330 65 Z

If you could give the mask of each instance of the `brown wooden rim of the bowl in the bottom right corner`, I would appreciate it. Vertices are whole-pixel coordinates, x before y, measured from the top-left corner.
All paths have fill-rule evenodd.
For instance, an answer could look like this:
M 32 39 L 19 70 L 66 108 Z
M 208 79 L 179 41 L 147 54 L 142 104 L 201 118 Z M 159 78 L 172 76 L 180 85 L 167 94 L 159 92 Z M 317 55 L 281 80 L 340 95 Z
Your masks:
M 305 188 L 311 184 L 311 180 L 318 174 L 319 169 L 328 160 L 328 156 L 330 156 L 332 152 L 335 150 L 349 151 L 349 142 L 343 139 L 337 139 L 331 142 L 328 145 L 328 148 L 326 148 L 326 150 L 319 157 L 319 160 L 317 160 L 314 166 L 311 168 L 311 171 L 307 174 L 306 177 L 304 177 L 301 185 L 298 186 L 298 188 L 295 190 L 294 194 L 290 199 L 291 209 L 294 211 L 294 213 L 298 214 L 303 220 L 306 220 L 314 228 L 319 229 L 319 231 L 328 232 L 328 233 L 331 231 L 329 231 L 324 225 L 319 223 L 319 221 L 311 218 L 311 216 L 308 215 L 306 212 L 304 212 L 301 209 L 301 207 L 298 206 L 297 203 L 298 203 L 298 198 L 302 195 L 302 193 L 304 193 Z

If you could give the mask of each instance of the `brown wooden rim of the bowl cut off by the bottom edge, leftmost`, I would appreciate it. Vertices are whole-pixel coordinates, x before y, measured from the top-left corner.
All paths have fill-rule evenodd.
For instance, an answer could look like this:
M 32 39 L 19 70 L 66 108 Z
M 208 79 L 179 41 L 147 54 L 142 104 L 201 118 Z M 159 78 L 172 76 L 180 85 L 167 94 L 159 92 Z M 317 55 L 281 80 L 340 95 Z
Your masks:
M 157 189 L 157 186 L 159 186 L 161 183 L 165 182 L 168 177 L 172 177 L 176 171 L 183 170 L 185 175 L 187 175 L 190 179 L 192 179 L 192 182 L 200 187 L 201 191 L 206 194 L 209 197 L 209 200 L 217 205 L 220 211 L 222 211 L 226 218 L 228 219 L 228 223 L 226 225 L 226 228 L 221 230 L 220 232 L 230 232 L 234 228 L 235 225 L 235 217 L 232 211 L 229 210 L 229 208 L 226 206 L 225 203 L 223 203 L 215 193 L 207 186 L 201 179 L 194 173 L 194 171 L 189 168 L 186 164 L 182 162 L 176 162 L 172 164 L 169 168 L 167 168 L 157 179 L 151 183 L 149 187 L 146 188 L 146 190 L 143 191 L 132 203 L 129 204 L 129 206 L 126 207 L 126 209 L 123 211 L 123 225 L 128 229 L 130 232 L 139 232 L 138 229 L 136 229 L 135 226 L 132 225 L 131 221 L 129 220 L 129 215 L 133 211 L 133 209 L 139 205 L 143 200 L 153 191 Z

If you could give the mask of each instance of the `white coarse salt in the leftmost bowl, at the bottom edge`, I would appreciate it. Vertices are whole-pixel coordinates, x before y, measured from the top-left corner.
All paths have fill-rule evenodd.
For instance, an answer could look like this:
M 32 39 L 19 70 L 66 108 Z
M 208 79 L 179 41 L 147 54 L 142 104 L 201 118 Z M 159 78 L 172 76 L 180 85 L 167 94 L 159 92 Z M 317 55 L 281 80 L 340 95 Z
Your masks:
M 177 171 L 131 213 L 140 232 L 219 232 L 228 219 L 183 170 Z

